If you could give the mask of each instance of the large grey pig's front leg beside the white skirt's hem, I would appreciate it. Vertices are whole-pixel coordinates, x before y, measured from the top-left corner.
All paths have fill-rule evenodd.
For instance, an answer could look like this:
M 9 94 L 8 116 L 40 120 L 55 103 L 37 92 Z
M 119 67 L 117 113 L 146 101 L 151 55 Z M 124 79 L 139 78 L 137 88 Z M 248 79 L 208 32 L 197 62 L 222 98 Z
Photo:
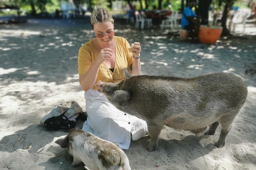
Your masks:
M 149 146 L 147 149 L 149 152 L 153 152 L 153 151 L 157 150 L 158 137 L 159 137 L 159 134 L 160 134 L 163 126 L 164 125 L 159 126 L 159 125 L 154 125 L 154 124 L 150 124 L 150 125 L 148 124 L 148 133 L 150 136 L 150 141 L 149 141 Z

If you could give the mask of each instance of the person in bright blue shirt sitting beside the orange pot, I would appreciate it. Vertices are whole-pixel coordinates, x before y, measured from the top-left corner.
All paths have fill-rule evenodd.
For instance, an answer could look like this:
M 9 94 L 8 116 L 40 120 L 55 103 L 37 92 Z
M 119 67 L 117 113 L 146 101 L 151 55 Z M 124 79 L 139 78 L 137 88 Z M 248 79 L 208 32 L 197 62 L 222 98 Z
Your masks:
M 183 11 L 181 18 L 181 28 L 190 30 L 192 39 L 198 36 L 198 30 L 201 24 L 200 17 L 192 10 L 195 5 L 196 1 L 190 0 L 188 6 Z

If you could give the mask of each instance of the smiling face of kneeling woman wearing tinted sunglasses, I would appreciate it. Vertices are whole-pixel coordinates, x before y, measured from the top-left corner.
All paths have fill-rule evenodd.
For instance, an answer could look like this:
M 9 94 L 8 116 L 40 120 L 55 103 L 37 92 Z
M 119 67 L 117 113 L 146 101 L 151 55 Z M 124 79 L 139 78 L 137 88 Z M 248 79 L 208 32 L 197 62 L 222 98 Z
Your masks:
M 98 38 L 97 36 L 97 40 L 102 43 L 102 45 L 110 45 L 113 38 L 114 38 L 114 24 L 111 21 L 106 21 L 106 22 L 99 22 L 97 24 L 94 24 L 94 32 L 97 35 L 102 36 L 102 34 L 104 34 L 103 37 Z M 107 34 L 109 33 L 109 34 Z

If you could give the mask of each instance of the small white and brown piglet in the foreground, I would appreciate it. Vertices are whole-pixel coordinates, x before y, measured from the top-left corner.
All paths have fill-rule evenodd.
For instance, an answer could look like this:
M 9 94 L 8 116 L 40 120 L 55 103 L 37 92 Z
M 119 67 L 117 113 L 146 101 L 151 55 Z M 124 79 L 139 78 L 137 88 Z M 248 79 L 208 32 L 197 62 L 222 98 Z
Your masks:
M 73 166 L 83 162 L 90 170 L 130 170 L 129 160 L 122 149 L 84 130 L 72 130 L 55 143 L 73 155 Z

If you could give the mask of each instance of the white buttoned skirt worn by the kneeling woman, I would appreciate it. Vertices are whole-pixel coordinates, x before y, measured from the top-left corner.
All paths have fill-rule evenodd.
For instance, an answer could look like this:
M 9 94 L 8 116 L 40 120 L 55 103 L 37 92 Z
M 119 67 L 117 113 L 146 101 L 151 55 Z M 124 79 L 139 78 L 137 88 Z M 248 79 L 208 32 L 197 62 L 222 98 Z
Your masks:
M 90 89 L 84 94 L 87 120 L 82 130 L 128 149 L 130 139 L 138 140 L 148 134 L 146 122 L 118 110 L 101 92 Z

